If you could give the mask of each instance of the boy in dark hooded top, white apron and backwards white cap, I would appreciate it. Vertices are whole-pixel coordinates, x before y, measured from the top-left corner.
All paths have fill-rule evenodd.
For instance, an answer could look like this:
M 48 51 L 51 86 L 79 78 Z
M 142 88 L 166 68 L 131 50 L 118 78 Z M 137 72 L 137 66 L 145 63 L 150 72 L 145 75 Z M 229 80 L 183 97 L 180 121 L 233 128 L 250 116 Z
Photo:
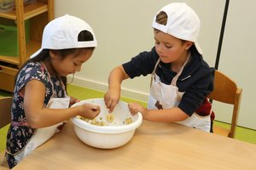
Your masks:
M 209 132 L 207 94 L 212 92 L 214 69 L 202 59 L 196 42 L 200 30 L 197 14 L 186 3 L 170 3 L 156 14 L 152 26 L 154 48 L 111 71 L 106 106 L 113 111 L 123 80 L 151 74 L 148 107 L 131 103 L 131 113 L 141 112 L 151 122 L 180 122 Z

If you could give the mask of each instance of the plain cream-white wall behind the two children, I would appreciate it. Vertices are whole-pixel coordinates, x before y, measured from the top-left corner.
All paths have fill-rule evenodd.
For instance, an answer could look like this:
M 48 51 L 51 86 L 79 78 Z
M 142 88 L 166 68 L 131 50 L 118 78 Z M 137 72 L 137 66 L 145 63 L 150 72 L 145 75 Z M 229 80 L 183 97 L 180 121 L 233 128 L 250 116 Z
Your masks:
M 151 23 L 154 14 L 171 2 L 186 2 L 195 9 L 201 18 L 199 42 L 204 52 L 204 59 L 209 65 L 214 66 L 224 0 L 55 0 L 56 17 L 62 14 L 73 14 L 86 20 L 95 31 L 98 41 L 95 53 L 83 65 L 82 71 L 76 74 L 73 83 L 106 91 L 108 73 L 113 67 L 153 47 Z M 230 1 L 219 64 L 219 70 L 224 71 L 237 82 L 239 87 L 243 88 L 239 125 L 254 129 L 256 129 L 256 123 L 253 122 L 256 119 L 254 114 L 256 111 L 253 108 L 253 96 L 256 94 L 254 90 L 256 81 L 251 73 L 255 72 L 253 71 L 255 68 L 253 40 L 256 24 L 252 19 L 256 15 L 256 11 L 253 10 L 255 6 L 254 0 Z M 149 79 L 150 77 L 140 77 L 123 82 L 122 95 L 147 101 Z M 229 107 L 221 107 L 216 103 L 214 110 L 218 120 L 229 122 L 230 115 L 218 115 L 218 111 L 230 110 Z

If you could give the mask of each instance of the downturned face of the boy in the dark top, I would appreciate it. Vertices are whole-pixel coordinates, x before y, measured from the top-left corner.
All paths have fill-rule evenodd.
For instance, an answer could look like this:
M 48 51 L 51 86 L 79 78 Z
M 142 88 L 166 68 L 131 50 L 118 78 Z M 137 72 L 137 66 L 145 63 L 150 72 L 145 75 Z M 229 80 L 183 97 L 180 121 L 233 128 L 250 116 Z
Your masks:
M 155 50 L 164 63 L 183 61 L 188 56 L 191 42 L 183 42 L 162 31 L 154 31 Z

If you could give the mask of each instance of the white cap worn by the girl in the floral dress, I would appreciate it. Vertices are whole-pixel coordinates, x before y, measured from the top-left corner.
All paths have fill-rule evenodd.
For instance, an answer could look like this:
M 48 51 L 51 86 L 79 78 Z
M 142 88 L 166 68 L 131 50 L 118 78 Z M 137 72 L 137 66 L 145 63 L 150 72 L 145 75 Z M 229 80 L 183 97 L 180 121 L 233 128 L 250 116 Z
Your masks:
M 90 31 L 93 40 L 79 42 L 81 31 Z M 44 27 L 41 48 L 30 58 L 37 56 L 43 49 L 90 48 L 96 45 L 96 37 L 89 24 L 75 16 L 65 14 L 51 20 Z

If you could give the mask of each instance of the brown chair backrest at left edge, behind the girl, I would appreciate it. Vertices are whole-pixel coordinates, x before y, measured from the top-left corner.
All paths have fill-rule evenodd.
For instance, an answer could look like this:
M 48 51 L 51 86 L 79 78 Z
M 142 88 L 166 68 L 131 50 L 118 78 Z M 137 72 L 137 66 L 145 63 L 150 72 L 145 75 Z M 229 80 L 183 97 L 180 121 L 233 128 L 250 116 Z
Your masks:
M 0 98 L 0 128 L 5 127 L 11 122 L 12 97 Z

